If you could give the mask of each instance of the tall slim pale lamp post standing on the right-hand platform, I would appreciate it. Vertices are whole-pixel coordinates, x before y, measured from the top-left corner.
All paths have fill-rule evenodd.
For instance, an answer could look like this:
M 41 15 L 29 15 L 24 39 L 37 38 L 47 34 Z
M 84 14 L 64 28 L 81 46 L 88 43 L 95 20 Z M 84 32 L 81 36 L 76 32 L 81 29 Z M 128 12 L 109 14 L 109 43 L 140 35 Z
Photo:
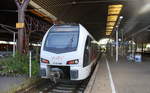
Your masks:
M 119 58 L 118 57 L 118 29 L 119 29 L 119 25 L 122 19 L 123 19 L 123 16 L 120 16 L 116 24 L 116 62 L 118 62 L 118 58 Z

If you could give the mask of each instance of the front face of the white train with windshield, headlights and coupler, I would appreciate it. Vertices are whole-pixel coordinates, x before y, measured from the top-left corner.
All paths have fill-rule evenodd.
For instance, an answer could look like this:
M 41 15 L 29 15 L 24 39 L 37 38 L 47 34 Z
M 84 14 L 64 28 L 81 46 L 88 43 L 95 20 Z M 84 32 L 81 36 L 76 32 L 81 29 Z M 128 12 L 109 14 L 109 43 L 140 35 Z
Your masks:
M 83 55 L 78 49 L 79 25 L 54 25 L 45 34 L 40 54 L 41 77 L 79 80 Z

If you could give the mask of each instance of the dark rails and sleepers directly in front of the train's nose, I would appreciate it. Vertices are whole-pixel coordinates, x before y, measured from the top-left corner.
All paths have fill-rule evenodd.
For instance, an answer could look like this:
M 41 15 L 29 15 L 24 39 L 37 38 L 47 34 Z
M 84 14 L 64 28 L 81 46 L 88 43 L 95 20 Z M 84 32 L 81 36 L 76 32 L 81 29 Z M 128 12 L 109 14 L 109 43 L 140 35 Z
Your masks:
M 39 93 L 83 93 L 89 78 L 83 81 L 63 80 L 56 84 L 51 84 L 47 88 L 39 91 Z

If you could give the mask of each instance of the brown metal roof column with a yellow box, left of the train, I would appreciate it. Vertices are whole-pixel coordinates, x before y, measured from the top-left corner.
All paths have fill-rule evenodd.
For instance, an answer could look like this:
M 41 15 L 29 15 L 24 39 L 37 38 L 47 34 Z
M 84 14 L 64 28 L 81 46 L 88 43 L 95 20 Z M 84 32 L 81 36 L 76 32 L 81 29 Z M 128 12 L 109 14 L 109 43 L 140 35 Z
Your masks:
M 16 24 L 16 28 L 18 28 L 18 52 L 23 54 L 25 47 L 24 33 L 25 33 L 25 10 L 30 0 L 15 0 L 15 3 L 18 8 L 18 23 Z

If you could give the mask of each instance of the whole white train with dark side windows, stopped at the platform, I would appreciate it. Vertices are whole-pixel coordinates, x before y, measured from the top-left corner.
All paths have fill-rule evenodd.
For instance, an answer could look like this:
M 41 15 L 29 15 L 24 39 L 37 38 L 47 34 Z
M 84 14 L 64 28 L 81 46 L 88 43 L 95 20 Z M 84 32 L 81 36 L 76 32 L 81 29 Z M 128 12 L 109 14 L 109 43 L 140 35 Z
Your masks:
M 41 44 L 41 78 L 86 79 L 98 59 L 96 42 L 81 24 L 54 24 Z

